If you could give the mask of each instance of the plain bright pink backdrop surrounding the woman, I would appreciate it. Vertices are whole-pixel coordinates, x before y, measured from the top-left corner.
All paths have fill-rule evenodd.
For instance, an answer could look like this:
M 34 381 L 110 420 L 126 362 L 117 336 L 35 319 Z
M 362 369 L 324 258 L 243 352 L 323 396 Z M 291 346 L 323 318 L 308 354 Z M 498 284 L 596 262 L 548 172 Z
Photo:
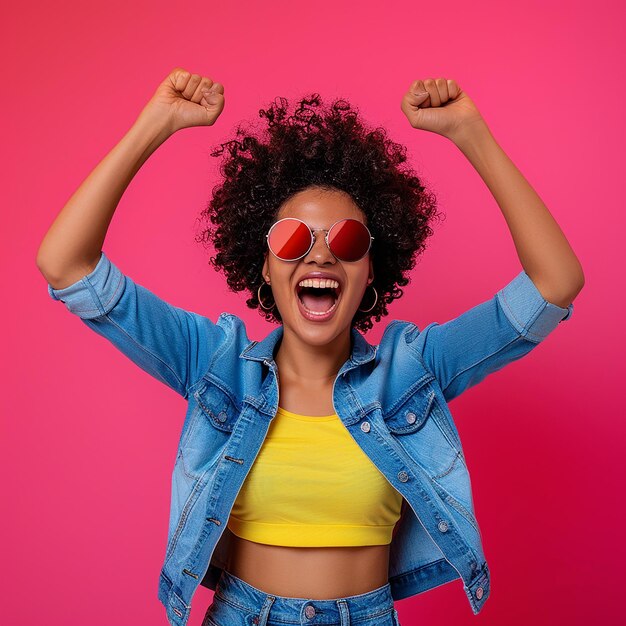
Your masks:
M 167 623 L 157 583 L 185 401 L 50 299 L 35 257 L 176 66 L 223 83 L 225 110 L 148 160 L 104 250 L 169 302 L 240 315 L 251 339 L 274 327 L 208 266 L 195 218 L 218 181 L 211 147 L 279 95 L 348 98 L 407 146 L 447 214 L 371 343 L 393 318 L 446 321 L 522 269 L 469 162 L 400 111 L 418 78 L 468 92 L 559 222 L 586 286 L 544 344 L 451 404 L 492 572 L 479 619 L 460 580 L 396 606 L 403 626 L 623 619 L 623 20 L 617 1 L 571 0 L 3 8 L 2 622 Z M 198 589 L 190 625 L 212 595 Z

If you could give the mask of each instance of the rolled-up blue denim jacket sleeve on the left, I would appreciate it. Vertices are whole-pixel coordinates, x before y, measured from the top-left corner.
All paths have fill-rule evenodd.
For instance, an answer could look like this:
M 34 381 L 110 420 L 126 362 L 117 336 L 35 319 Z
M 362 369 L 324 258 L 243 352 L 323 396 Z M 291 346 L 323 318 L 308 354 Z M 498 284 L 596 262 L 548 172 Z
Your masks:
M 136 365 L 184 398 L 224 338 L 210 319 L 172 306 L 122 274 L 104 252 L 90 274 L 48 293 Z

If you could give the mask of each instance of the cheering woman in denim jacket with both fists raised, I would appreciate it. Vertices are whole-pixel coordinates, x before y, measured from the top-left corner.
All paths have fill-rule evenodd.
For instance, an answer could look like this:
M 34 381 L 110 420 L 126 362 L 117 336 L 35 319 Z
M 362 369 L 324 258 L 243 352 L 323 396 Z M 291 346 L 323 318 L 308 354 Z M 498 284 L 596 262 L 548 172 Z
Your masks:
M 199 584 L 204 624 L 399 623 L 394 600 L 461 579 L 472 610 L 489 569 L 469 473 L 447 403 L 530 352 L 569 318 L 584 282 L 545 205 L 453 80 L 417 80 L 411 126 L 455 143 L 492 191 L 523 270 L 445 324 L 372 327 L 402 295 L 439 217 L 402 164 L 343 100 L 317 94 L 292 115 L 278 100 L 246 133 L 203 213 L 199 237 L 247 304 L 278 327 L 250 341 L 236 315 L 216 322 L 172 306 L 102 252 L 134 174 L 177 130 L 212 125 L 219 83 L 182 68 L 56 218 L 37 264 L 65 302 L 137 365 L 188 400 L 172 480 L 159 599 L 184 625 Z

